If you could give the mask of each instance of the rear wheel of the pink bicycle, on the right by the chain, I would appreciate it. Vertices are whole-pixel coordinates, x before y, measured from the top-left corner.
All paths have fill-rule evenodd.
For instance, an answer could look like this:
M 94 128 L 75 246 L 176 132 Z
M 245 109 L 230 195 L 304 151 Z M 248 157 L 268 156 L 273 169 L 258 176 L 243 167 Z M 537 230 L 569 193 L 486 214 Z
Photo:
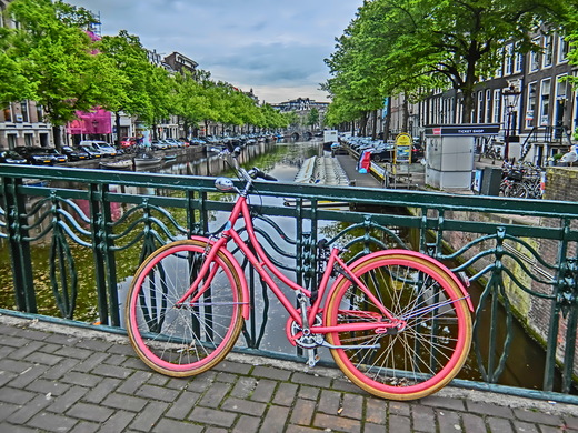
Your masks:
M 407 325 L 397 334 L 329 333 L 328 342 L 335 345 L 380 344 L 331 349 L 341 371 L 365 391 L 390 400 L 421 399 L 448 384 L 471 344 L 471 314 L 451 272 L 423 254 L 402 250 L 371 254 L 355 263 L 352 272 Z M 331 289 L 325 320 L 329 326 L 382 322 L 379 311 L 349 279 L 340 278 Z

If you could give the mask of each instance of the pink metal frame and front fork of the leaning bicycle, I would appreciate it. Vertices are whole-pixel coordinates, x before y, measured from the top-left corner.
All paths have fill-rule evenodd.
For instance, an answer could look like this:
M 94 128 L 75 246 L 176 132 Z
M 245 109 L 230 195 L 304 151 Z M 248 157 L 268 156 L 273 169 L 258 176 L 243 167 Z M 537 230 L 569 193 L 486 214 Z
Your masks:
M 247 243 L 241 239 L 239 233 L 235 230 L 235 224 L 239 220 L 239 218 L 242 218 L 246 224 L 246 230 L 249 235 L 249 241 L 251 245 L 253 245 L 256 253 L 253 253 Z M 198 238 L 197 239 L 203 239 L 206 238 Z M 293 306 L 291 301 L 285 295 L 285 293 L 281 291 L 279 285 L 273 281 L 271 275 L 267 272 L 269 270 L 273 276 L 278 278 L 283 282 L 283 284 L 287 284 L 290 289 L 295 290 L 298 293 L 302 293 L 307 298 L 311 296 L 311 292 L 303 286 L 297 284 L 296 282 L 291 281 L 289 278 L 287 278 L 285 274 L 281 273 L 281 271 L 270 261 L 267 253 L 263 251 L 262 246 L 260 245 L 252 224 L 252 220 L 250 216 L 249 205 L 247 203 L 247 197 L 245 194 L 240 194 L 238 197 L 238 200 L 231 211 L 231 214 L 229 216 L 229 220 L 226 224 L 226 229 L 221 232 L 220 238 L 211 243 L 211 248 L 207 253 L 206 261 L 203 265 L 201 266 L 199 274 L 197 279 L 192 282 L 190 289 L 185 293 L 185 295 L 179 300 L 178 303 L 195 303 L 198 301 L 202 294 L 209 289 L 210 283 L 210 264 L 212 263 L 212 260 L 217 255 L 217 252 L 221 249 L 226 250 L 227 243 L 229 241 L 233 241 L 239 249 L 242 251 L 242 253 L 247 256 L 251 265 L 257 270 L 259 275 L 263 279 L 266 284 L 269 286 L 269 289 L 275 293 L 275 295 L 279 299 L 281 304 L 285 306 L 291 319 L 301 328 L 309 329 L 310 324 L 315 323 L 316 315 L 321 311 L 321 302 L 323 299 L 323 294 L 326 293 L 329 284 L 329 279 L 331 276 L 333 266 L 337 264 L 339 265 L 345 273 L 347 274 L 347 278 L 351 279 L 362 291 L 366 292 L 366 294 L 378 305 L 380 305 L 380 302 L 373 296 L 373 294 L 367 290 L 366 285 L 351 272 L 350 268 L 339 258 L 339 249 L 333 248 L 331 249 L 331 253 L 329 255 L 326 270 L 323 272 L 321 282 L 319 283 L 319 294 L 317 296 L 317 300 L 315 301 L 313 305 L 311 305 L 307 316 L 302 316 L 301 312 L 298 308 Z M 195 295 L 188 301 L 188 299 L 193 294 L 193 292 L 199 288 L 202 280 L 206 278 L 206 275 L 209 275 L 207 279 L 205 285 L 195 293 Z M 340 276 L 345 278 L 345 276 Z M 348 324 L 348 330 L 351 331 L 363 331 L 363 330 L 377 330 L 377 329 L 383 329 L 382 332 L 387 332 L 387 329 L 389 328 L 398 328 L 401 325 L 401 320 L 395 318 L 389 311 L 381 308 L 381 313 L 389 320 L 387 322 L 380 322 L 380 323 L 356 323 L 356 324 Z M 310 330 L 312 333 L 317 334 L 326 334 L 329 332 L 336 332 L 341 331 L 343 325 L 341 326 L 325 326 L 325 325 L 311 325 Z

